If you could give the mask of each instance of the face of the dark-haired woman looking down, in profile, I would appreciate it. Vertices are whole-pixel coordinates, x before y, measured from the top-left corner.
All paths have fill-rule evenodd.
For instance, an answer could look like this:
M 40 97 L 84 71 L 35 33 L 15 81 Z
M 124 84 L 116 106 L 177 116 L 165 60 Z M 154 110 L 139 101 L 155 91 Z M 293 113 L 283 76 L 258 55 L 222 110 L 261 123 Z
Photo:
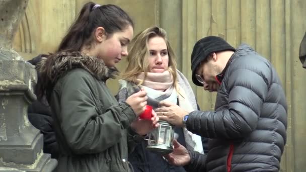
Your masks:
M 113 33 L 110 37 L 103 37 L 101 43 L 97 44 L 97 56 L 104 60 L 108 67 L 114 66 L 122 57 L 127 56 L 127 45 L 133 38 L 132 26 L 125 30 Z

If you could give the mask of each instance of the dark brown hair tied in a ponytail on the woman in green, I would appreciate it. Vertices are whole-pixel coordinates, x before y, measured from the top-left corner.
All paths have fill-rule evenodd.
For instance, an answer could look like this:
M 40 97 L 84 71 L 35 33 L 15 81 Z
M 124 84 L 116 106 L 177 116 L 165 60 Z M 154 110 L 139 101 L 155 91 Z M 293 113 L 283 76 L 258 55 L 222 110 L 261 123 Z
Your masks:
M 90 46 L 93 41 L 93 33 L 97 27 L 103 27 L 106 35 L 123 31 L 127 26 L 133 27 L 133 21 L 118 6 L 104 5 L 95 7 L 95 3 L 87 3 L 83 6 L 79 17 L 69 28 L 56 52 L 81 51 L 81 48 Z

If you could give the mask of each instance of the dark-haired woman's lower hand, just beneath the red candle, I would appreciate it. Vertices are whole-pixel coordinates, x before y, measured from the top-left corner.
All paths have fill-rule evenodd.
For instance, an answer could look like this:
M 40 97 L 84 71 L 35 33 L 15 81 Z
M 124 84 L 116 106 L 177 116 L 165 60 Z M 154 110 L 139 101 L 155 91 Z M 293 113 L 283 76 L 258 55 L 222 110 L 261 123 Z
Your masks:
M 158 121 L 159 117 L 152 110 L 152 118 L 150 120 L 137 118 L 131 123 L 130 126 L 137 134 L 143 136 L 159 127 L 160 124 L 158 123 Z

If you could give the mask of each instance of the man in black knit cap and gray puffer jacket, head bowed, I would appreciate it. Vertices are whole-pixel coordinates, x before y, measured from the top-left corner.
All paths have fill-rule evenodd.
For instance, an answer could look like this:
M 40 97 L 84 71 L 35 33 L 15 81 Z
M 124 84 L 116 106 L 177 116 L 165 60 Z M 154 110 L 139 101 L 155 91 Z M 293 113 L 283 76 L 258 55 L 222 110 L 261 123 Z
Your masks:
M 189 171 L 279 171 L 286 143 L 287 104 L 272 64 L 242 44 L 220 37 L 199 40 L 191 55 L 192 81 L 217 92 L 214 111 L 187 113 L 162 102 L 156 110 L 168 121 L 208 137 L 208 153 L 188 151 L 174 141 L 170 163 Z

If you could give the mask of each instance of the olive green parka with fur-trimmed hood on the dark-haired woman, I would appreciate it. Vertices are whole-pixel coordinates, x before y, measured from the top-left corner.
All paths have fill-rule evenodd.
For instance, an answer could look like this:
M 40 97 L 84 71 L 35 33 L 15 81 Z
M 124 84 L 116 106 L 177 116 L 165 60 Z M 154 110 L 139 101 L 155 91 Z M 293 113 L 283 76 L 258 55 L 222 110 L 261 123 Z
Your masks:
M 57 171 L 130 171 L 128 151 L 139 140 L 129 125 L 136 115 L 105 84 L 116 70 L 80 52 L 57 53 L 48 58 L 49 68 L 46 61 L 40 72 L 52 73 L 45 83 L 54 85 L 48 99 L 60 150 Z

